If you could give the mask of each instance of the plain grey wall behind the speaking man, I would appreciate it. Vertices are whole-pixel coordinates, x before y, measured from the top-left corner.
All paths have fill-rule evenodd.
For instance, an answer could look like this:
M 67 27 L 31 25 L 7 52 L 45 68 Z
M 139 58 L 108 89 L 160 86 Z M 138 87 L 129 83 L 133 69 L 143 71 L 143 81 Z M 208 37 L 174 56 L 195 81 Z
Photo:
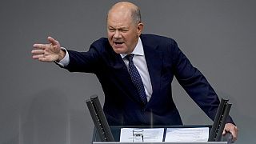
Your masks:
M 106 13 L 118 1 L 2 0 L 0 2 L 0 143 L 89 144 L 93 122 L 85 99 L 102 88 L 94 74 L 69 73 L 34 61 L 34 43 L 52 36 L 88 50 L 106 37 Z M 221 98 L 233 103 L 236 143 L 256 143 L 256 1 L 130 1 L 142 11 L 144 33 L 174 38 Z M 173 82 L 184 124 L 212 124 Z

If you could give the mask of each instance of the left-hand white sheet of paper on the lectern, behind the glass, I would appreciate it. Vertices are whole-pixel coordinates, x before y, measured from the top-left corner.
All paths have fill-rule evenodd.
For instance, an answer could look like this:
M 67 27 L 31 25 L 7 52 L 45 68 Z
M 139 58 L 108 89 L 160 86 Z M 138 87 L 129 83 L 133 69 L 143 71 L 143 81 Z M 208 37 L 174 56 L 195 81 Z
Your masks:
M 141 133 L 142 135 L 138 134 Z M 120 134 L 120 142 L 138 142 L 140 139 L 135 137 L 143 136 L 143 142 L 162 142 L 164 128 L 122 128 Z

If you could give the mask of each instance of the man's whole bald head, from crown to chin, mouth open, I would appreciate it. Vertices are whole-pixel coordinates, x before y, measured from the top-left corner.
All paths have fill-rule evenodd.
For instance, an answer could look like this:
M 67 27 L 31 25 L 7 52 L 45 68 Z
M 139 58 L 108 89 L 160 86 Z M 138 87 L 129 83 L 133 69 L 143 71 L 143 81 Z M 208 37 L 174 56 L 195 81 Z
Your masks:
M 110 45 L 118 54 L 130 54 L 142 34 L 143 24 L 138 6 L 118 2 L 108 12 L 107 34 Z

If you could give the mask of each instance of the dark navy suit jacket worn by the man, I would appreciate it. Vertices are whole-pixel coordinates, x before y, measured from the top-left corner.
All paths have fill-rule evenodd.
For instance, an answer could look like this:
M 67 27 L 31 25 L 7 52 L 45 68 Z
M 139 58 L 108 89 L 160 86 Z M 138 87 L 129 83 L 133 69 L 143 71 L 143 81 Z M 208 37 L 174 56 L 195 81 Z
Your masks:
M 206 78 L 191 65 L 171 38 L 142 34 L 146 63 L 153 94 L 143 106 L 120 54 L 116 54 L 107 38 L 100 38 L 88 52 L 69 50 L 71 72 L 96 74 L 105 94 L 103 110 L 110 125 L 182 125 L 172 98 L 174 76 L 212 119 L 218 109 L 218 96 Z M 232 122 L 231 118 L 229 121 Z

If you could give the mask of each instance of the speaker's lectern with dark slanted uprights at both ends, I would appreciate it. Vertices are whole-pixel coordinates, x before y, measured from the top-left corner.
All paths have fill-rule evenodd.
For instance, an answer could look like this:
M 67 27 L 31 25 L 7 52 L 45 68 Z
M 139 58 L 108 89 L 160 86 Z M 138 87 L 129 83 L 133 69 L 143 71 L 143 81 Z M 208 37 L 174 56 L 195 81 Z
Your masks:
M 222 135 L 222 130 L 224 129 L 226 118 L 228 116 L 231 104 L 228 103 L 228 100 L 222 99 L 220 106 L 218 106 L 218 113 L 214 118 L 214 125 L 194 125 L 194 126 L 109 126 L 108 122 L 106 121 L 106 116 L 102 110 L 102 106 L 98 100 L 98 96 L 94 95 L 91 96 L 90 99 L 86 100 L 86 104 L 88 109 L 90 110 L 90 115 L 94 121 L 94 135 L 92 139 L 92 144 L 138 144 L 138 143 L 145 143 L 145 144 L 206 144 L 206 143 L 215 143 L 215 144 L 230 144 L 232 140 L 232 135 L 227 133 L 225 136 Z M 168 128 L 197 128 L 197 127 L 209 127 L 209 138 L 208 142 L 120 142 L 120 134 L 122 128 L 162 128 L 164 129 L 163 139 L 166 138 L 166 130 Z M 98 131 L 96 131 L 98 130 Z M 138 134 L 138 133 L 136 133 Z M 194 133 L 193 133 L 194 134 Z M 142 134 L 138 134 L 142 135 Z M 168 138 L 172 138 L 172 135 L 168 136 Z M 185 137 L 183 137 L 185 138 Z M 186 137 L 190 138 L 190 137 Z M 161 139 L 160 139 L 161 140 Z M 174 139 L 172 139 L 174 140 Z M 191 140 L 191 139 L 190 139 Z M 192 141 L 192 140 L 191 140 Z M 204 140 L 205 141 L 205 140 Z

